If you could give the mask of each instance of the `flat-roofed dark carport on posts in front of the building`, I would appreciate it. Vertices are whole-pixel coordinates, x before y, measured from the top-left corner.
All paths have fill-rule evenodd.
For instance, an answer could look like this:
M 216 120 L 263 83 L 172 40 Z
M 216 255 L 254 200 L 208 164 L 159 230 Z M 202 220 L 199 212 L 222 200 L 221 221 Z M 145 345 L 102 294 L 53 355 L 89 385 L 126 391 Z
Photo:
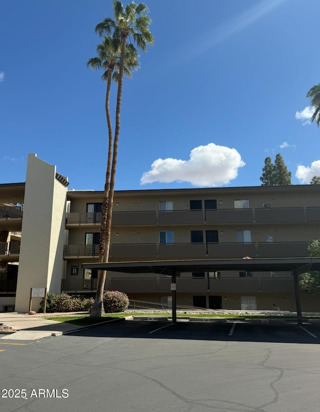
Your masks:
M 294 293 L 297 323 L 302 325 L 302 313 L 299 297 L 298 276 L 312 270 L 320 270 L 320 258 L 269 258 L 269 259 L 201 259 L 201 260 L 155 260 L 136 262 L 83 263 L 82 268 L 123 272 L 130 274 L 157 273 L 171 276 L 172 322 L 176 322 L 176 276 L 187 272 L 211 271 L 255 271 L 287 272 L 290 271 L 294 281 Z

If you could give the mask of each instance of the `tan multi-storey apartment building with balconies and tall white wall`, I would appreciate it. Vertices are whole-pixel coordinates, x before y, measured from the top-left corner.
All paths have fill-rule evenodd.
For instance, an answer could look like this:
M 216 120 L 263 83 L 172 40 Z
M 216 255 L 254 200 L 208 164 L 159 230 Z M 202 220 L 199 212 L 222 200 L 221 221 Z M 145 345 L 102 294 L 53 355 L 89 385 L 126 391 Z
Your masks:
M 26 310 L 30 287 L 94 295 L 98 272 L 81 263 L 98 258 L 103 192 L 67 190 L 67 184 L 54 166 L 29 155 L 25 184 L 0 185 L 2 215 L 17 214 L 0 215 L 0 310 L 9 304 Z M 318 185 L 116 191 L 109 260 L 305 257 L 320 237 L 319 201 Z M 170 278 L 161 274 L 108 272 L 105 288 L 123 291 L 131 301 L 171 303 Z M 295 310 L 290 272 L 212 267 L 182 273 L 176 301 L 212 309 Z M 320 311 L 313 294 L 301 293 L 301 304 L 304 311 Z

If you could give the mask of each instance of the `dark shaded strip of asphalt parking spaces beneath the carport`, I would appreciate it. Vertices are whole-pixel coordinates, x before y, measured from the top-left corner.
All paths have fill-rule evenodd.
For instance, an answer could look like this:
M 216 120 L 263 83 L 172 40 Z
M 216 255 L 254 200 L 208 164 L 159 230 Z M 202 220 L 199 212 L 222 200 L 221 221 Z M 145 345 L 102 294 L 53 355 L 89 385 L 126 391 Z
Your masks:
M 246 323 L 130 320 L 72 333 L 73 336 L 104 336 L 149 339 L 234 340 L 253 342 L 320 343 L 320 323 Z

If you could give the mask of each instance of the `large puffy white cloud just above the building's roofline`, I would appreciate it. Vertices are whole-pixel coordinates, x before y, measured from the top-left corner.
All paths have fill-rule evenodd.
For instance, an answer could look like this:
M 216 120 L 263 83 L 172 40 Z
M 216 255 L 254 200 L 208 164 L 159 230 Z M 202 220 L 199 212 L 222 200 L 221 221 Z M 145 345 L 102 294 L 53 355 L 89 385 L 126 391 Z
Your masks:
M 221 186 L 235 179 L 244 166 L 235 149 L 209 143 L 191 150 L 189 160 L 157 159 L 140 183 L 182 181 L 194 186 Z

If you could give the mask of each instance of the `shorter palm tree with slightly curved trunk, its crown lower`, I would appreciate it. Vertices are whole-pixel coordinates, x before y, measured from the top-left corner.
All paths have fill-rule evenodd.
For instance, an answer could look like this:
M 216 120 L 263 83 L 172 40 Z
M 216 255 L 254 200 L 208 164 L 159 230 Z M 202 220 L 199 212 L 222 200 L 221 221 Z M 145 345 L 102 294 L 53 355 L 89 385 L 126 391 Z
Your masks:
M 96 47 L 97 57 L 89 59 L 86 63 L 87 67 L 91 67 L 93 70 L 103 69 L 102 80 L 106 82 L 106 93 L 105 93 L 105 114 L 106 122 L 108 128 L 108 156 L 107 156 L 107 166 L 105 173 L 105 183 L 104 183 L 104 194 L 101 210 L 101 226 L 100 226 L 100 244 L 99 244 L 99 262 L 104 260 L 104 250 L 105 250 L 105 228 L 106 228 L 106 218 L 108 210 L 108 196 L 110 187 L 110 174 L 111 174 L 111 160 L 112 160 L 112 124 L 111 116 L 109 110 L 110 101 L 110 90 L 111 90 L 111 80 L 114 83 L 118 82 L 119 78 L 119 62 L 120 62 L 120 50 L 119 44 L 115 39 L 104 36 L 104 39 L 100 45 Z M 133 48 L 126 47 L 124 52 L 124 64 L 123 72 L 127 77 L 132 77 L 132 70 L 137 70 L 139 68 L 138 53 Z M 107 246 L 109 248 L 109 245 Z M 107 250 L 108 253 L 108 250 Z M 102 295 L 105 283 L 106 272 L 102 271 L 99 278 L 101 282 L 98 283 L 95 304 L 91 311 L 92 316 L 97 316 L 103 313 Z M 104 279 L 103 279 L 104 277 Z

